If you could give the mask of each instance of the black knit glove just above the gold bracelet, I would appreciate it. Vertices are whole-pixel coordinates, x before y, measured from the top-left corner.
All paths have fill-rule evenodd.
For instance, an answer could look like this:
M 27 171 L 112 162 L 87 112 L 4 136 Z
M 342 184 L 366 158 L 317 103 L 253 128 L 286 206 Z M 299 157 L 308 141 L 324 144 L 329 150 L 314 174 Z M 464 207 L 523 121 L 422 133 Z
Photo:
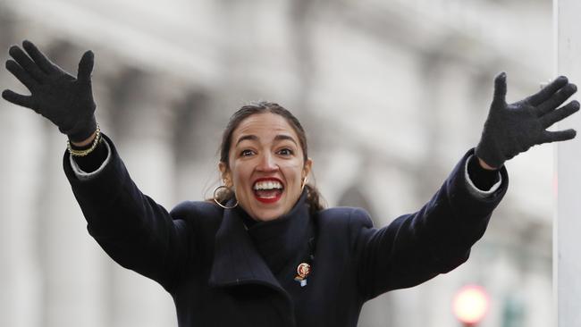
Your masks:
M 79 74 L 74 78 L 51 63 L 31 42 L 22 42 L 22 47 L 29 56 L 20 47 L 11 46 L 8 53 L 14 60 L 6 61 L 6 69 L 29 89 L 30 96 L 5 89 L 2 97 L 42 114 L 73 142 L 89 138 L 97 130 L 91 90 L 93 53 L 87 51 L 82 56 Z

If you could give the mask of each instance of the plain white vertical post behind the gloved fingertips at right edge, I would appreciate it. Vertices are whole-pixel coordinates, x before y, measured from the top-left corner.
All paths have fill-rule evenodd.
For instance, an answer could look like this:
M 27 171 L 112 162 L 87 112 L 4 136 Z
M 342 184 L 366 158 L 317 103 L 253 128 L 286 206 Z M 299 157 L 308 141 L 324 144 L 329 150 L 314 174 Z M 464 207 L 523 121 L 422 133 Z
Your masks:
M 578 13 L 581 3 L 575 0 L 553 1 L 556 13 L 557 71 L 567 75 L 569 80 L 581 83 L 581 27 Z M 579 98 L 579 96 L 573 96 Z M 559 123 L 558 129 L 575 128 L 581 130 L 579 113 Z M 560 327 L 581 325 L 581 260 L 579 259 L 579 231 L 581 231 L 581 141 L 577 138 L 557 145 L 557 218 L 553 228 L 553 281 Z

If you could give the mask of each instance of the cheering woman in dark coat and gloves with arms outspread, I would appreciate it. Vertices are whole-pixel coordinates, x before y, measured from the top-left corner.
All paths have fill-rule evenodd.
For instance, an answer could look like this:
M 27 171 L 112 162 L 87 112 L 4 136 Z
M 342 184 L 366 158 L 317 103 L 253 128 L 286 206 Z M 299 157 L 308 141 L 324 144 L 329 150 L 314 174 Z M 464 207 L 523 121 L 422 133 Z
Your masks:
M 64 171 L 89 233 L 117 263 L 173 296 L 180 326 L 355 326 L 361 306 L 467 260 L 508 187 L 503 163 L 529 147 L 575 137 L 545 129 L 577 112 L 564 77 L 507 104 L 495 80 L 482 138 L 415 214 L 375 229 L 362 209 L 324 209 L 307 184 L 312 160 L 299 121 L 280 105 L 234 113 L 223 133 L 223 186 L 213 201 L 168 213 L 143 195 L 114 142 L 101 134 L 91 91 L 93 54 L 77 78 L 28 41 L 6 68 L 31 92 L 4 99 L 32 108 L 70 142 Z M 28 53 L 28 55 L 27 55 Z

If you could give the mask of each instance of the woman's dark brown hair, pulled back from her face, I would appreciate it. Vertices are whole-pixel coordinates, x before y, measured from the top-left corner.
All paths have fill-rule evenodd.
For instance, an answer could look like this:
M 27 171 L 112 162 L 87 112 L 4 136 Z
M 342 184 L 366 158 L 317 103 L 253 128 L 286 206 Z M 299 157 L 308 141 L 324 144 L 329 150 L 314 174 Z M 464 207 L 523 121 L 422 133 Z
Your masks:
M 236 130 L 238 125 L 240 125 L 240 122 L 249 116 L 258 113 L 275 113 L 281 115 L 287 122 L 289 122 L 292 129 L 295 130 L 299 136 L 299 144 L 303 150 L 303 161 L 307 163 L 307 135 L 297 117 L 283 108 L 282 105 L 261 101 L 242 106 L 236 113 L 232 114 L 232 117 L 230 117 L 226 129 L 223 131 L 222 144 L 220 145 L 220 161 L 226 165 L 226 168 L 230 169 L 228 158 L 230 156 L 230 147 L 232 146 L 232 133 Z M 305 185 L 305 189 L 307 189 L 307 205 L 309 206 L 309 210 L 312 213 L 315 213 L 316 211 L 324 209 L 323 200 L 318 190 L 308 183 Z M 232 197 L 234 197 L 234 192 L 231 189 L 223 188 L 215 196 L 218 202 L 225 205 L 230 199 L 232 199 Z

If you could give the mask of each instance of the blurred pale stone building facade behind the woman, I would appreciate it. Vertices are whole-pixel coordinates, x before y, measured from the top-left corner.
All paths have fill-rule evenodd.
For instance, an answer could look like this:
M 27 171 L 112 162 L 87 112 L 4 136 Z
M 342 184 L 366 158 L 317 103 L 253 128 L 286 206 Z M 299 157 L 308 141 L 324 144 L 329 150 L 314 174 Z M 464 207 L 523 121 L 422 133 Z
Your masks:
M 140 189 L 167 209 L 211 197 L 230 115 L 297 114 L 328 205 L 383 226 L 417 211 L 475 147 L 506 71 L 509 101 L 554 72 L 550 0 L 0 0 L 0 59 L 23 39 L 76 75 L 96 54 L 97 120 Z M 27 93 L 0 72 L 0 88 Z M 0 325 L 174 326 L 172 298 L 105 256 L 62 169 L 66 137 L 0 101 Z M 552 325 L 552 146 L 506 164 L 509 192 L 467 264 L 368 302 L 360 326 Z M 313 180 L 312 180 L 313 181 Z

